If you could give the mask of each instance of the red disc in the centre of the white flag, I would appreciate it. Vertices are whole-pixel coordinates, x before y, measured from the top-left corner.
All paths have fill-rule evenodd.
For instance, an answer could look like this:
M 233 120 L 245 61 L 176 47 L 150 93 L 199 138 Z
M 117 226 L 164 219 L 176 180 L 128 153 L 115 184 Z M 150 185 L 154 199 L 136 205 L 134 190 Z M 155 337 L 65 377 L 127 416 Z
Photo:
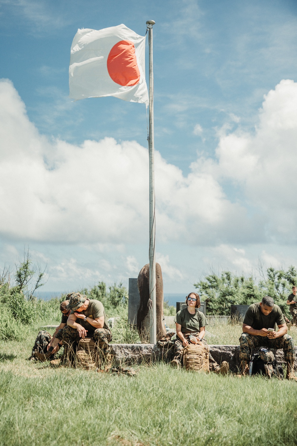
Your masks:
M 107 70 L 112 80 L 123 87 L 138 84 L 140 72 L 133 42 L 121 40 L 112 47 L 107 58 Z

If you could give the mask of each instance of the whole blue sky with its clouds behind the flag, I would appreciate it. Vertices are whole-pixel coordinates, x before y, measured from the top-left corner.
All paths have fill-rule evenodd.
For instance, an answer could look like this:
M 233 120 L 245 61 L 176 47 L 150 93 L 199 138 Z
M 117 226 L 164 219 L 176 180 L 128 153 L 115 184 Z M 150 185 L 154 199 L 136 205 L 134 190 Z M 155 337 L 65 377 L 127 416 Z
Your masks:
M 29 245 L 45 289 L 71 290 L 148 262 L 145 106 L 68 87 L 78 28 L 148 19 L 164 291 L 297 264 L 295 1 L 4 0 L 0 17 L 2 264 Z

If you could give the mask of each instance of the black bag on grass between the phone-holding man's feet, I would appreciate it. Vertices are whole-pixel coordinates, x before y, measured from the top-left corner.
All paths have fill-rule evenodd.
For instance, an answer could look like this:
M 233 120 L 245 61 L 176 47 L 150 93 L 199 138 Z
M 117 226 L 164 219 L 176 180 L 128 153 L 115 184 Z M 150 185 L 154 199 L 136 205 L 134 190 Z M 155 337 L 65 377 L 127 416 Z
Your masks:
M 266 348 L 260 348 L 259 352 L 252 355 L 249 375 L 263 375 L 270 380 L 273 377 L 283 380 L 284 370 L 281 365 L 277 363 L 277 360 L 274 358 L 271 351 L 268 351 Z

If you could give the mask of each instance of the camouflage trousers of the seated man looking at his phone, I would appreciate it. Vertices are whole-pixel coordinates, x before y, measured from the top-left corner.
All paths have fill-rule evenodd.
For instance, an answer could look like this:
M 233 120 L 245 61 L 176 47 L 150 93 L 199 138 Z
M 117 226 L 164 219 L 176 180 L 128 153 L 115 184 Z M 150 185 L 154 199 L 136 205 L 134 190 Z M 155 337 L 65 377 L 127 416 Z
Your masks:
M 293 338 L 290 335 L 284 335 L 281 338 L 269 339 L 263 336 L 248 335 L 242 333 L 239 338 L 240 351 L 239 359 L 241 361 L 249 361 L 251 359 L 252 349 L 255 347 L 282 348 L 284 351 L 285 361 L 293 364 L 295 360 L 295 350 Z

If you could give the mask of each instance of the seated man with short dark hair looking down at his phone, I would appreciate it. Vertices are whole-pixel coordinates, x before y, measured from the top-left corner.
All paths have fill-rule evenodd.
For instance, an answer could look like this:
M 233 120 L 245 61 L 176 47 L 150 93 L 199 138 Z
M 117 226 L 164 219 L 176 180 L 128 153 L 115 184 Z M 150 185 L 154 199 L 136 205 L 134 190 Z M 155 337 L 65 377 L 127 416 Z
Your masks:
M 275 331 L 276 325 L 278 331 Z M 274 304 L 273 298 L 263 297 L 248 307 L 242 324 L 240 336 L 239 358 L 240 372 L 248 375 L 248 363 L 252 349 L 255 347 L 282 348 L 287 363 L 287 380 L 297 380 L 294 375 L 295 350 L 293 338 L 287 334 L 288 327 L 279 306 Z

